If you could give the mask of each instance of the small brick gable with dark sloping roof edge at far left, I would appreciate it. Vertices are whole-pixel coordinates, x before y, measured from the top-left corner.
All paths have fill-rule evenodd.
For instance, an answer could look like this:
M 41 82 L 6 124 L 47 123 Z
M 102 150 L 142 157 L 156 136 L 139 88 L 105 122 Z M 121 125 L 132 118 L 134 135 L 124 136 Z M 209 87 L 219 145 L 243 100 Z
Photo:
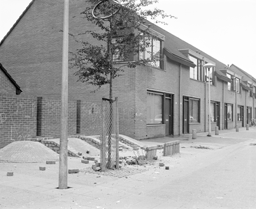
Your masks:
M 17 85 L 13 77 L 7 72 L 6 68 L 0 63 L 0 93 L 12 93 L 19 95 L 22 93 L 20 86 Z

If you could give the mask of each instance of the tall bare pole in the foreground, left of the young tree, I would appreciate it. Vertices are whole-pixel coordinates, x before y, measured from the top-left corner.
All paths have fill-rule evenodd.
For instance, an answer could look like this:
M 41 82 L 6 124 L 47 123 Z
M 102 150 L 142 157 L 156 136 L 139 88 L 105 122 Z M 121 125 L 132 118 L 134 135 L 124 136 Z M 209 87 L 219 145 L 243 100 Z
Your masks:
M 59 189 L 68 188 L 69 0 L 64 0 L 62 114 L 59 140 Z

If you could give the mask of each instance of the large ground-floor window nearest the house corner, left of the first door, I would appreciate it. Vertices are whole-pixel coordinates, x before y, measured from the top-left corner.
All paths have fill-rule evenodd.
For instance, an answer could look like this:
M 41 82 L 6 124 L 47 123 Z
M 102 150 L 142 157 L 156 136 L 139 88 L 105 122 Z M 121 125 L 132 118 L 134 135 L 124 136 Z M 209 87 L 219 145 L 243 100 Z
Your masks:
M 147 93 L 147 124 L 163 123 L 163 97 L 162 93 Z

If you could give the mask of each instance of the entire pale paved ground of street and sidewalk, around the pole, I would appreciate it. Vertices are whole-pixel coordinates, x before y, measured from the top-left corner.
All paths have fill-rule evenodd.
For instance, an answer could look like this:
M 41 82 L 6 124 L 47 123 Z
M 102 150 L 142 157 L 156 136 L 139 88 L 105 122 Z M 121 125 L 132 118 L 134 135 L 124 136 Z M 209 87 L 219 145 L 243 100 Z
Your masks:
M 0 163 L 0 208 L 253 208 L 256 146 L 250 142 L 256 142 L 255 132 L 233 134 L 220 131 L 218 137 L 201 134 L 182 141 L 180 154 L 159 157 L 146 171 L 121 178 L 100 172 L 69 174 L 70 189 L 56 189 L 58 162 Z M 213 149 L 193 148 L 199 145 Z M 159 162 L 170 169 L 158 167 Z M 68 164 L 78 169 L 92 166 L 77 157 L 69 157 Z M 14 176 L 6 176 L 7 171 Z

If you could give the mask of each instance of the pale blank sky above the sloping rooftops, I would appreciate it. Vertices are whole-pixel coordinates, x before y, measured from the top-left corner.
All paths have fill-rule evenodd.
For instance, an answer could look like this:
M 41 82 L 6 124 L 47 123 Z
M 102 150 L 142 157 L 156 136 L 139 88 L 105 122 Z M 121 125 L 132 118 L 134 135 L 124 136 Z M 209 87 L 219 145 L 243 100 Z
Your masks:
M 0 0 L 1 40 L 30 2 Z M 178 17 L 159 25 L 166 31 L 256 78 L 256 0 L 159 0 L 156 7 Z

